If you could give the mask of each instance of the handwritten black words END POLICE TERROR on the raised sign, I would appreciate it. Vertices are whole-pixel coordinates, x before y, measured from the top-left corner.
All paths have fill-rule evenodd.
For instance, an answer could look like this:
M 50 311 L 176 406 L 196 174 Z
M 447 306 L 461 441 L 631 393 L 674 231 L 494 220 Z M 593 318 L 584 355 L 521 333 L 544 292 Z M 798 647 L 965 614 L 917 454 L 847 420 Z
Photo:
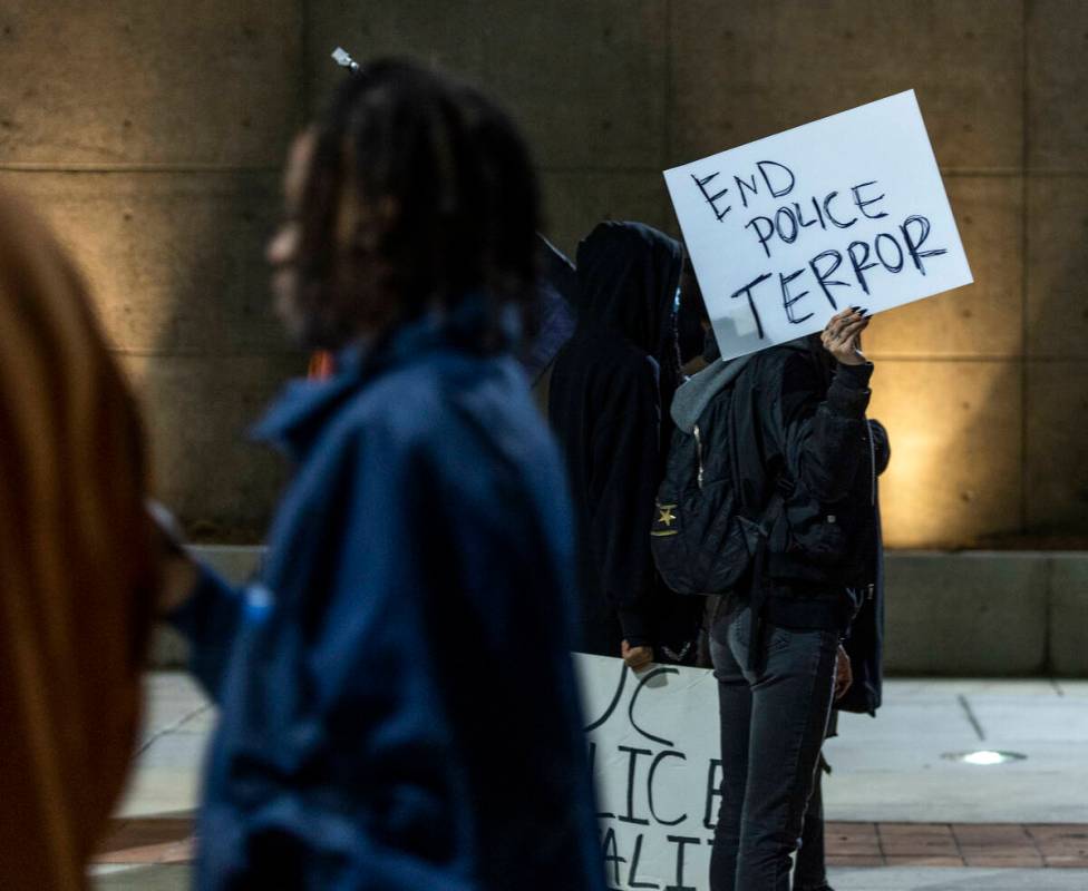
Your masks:
M 731 182 L 720 172 L 706 176 L 692 174 L 691 178 L 710 210 L 722 223 L 730 214 L 745 215 L 749 200 L 760 196 L 764 189 L 764 194 L 777 199 L 793 198 L 769 215 L 751 216 L 744 225 L 744 231 L 759 244 L 768 260 L 774 260 L 776 248 L 784 244 L 808 238 L 814 247 L 822 246 L 816 244 L 816 233 L 843 231 L 843 249 L 820 251 L 802 268 L 778 272 L 777 283 L 768 282 L 775 277 L 775 272 L 762 273 L 729 295 L 732 300 L 747 298 L 760 339 L 764 337 L 764 325 L 759 307 L 766 305 L 764 301 L 774 293 L 776 284 L 786 317 L 799 325 L 815 315 L 808 301 L 825 298 L 832 310 L 838 311 L 841 305 L 846 305 L 851 293 L 843 288 L 859 287 L 868 294 L 872 278 L 880 271 L 893 275 L 913 271 L 925 275 L 926 260 L 948 253 L 946 248 L 926 245 L 931 225 L 929 218 L 920 214 L 906 216 L 897 224 L 891 222 L 872 238 L 848 241 L 849 231 L 859 222 L 888 218 L 888 213 L 883 209 L 885 195 L 877 180 L 857 183 L 842 193 L 836 190 L 802 198 L 795 195 L 797 178 L 785 164 L 760 160 L 756 163 L 756 170 L 748 179 L 734 175 Z

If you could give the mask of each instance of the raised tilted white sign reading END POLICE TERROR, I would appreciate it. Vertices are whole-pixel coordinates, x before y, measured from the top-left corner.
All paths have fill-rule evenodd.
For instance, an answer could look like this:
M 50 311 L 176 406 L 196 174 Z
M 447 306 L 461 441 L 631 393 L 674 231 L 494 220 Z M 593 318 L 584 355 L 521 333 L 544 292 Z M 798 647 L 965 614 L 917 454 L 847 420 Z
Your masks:
M 913 90 L 664 178 L 723 359 L 973 281 Z

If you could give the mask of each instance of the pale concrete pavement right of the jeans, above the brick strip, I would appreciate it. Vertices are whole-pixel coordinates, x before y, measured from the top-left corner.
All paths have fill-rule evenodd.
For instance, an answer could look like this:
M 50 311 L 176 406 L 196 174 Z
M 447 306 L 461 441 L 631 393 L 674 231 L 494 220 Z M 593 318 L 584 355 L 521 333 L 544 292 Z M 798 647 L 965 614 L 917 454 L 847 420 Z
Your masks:
M 827 746 L 833 820 L 1088 823 L 1088 682 L 894 681 Z M 942 755 L 1009 750 L 979 767 Z M 1088 882 L 1085 884 L 1088 891 Z

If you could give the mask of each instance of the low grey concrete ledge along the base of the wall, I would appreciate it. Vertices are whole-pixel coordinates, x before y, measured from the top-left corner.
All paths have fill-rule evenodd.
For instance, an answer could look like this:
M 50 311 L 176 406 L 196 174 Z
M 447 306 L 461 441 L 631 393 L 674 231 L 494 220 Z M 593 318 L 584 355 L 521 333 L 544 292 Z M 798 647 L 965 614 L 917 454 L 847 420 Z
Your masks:
M 193 551 L 244 582 L 262 548 Z M 1088 677 L 1088 552 L 891 551 L 885 667 L 890 675 Z M 152 664 L 177 667 L 185 643 L 164 628 Z

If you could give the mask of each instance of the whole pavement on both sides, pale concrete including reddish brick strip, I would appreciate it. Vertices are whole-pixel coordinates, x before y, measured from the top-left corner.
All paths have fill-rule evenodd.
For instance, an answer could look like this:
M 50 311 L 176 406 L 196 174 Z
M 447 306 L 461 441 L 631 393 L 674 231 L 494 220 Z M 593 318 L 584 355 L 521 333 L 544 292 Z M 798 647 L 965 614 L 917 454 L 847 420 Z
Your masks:
M 132 789 L 97 887 L 187 887 L 214 713 L 182 675 L 148 678 Z M 876 721 L 844 716 L 825 783 L 836 891 L 1088 891 L 1088 682 L 892 681 Z M 975 766 L 945 753 L 1008 750 Z

